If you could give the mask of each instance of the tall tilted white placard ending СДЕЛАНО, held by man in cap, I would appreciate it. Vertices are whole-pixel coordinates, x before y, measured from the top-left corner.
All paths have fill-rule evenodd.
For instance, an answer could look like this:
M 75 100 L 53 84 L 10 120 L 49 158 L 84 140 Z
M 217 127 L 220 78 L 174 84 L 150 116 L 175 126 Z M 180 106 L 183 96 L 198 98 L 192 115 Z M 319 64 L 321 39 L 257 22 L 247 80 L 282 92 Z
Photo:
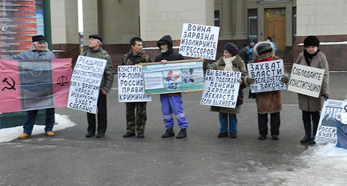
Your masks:
M 100 84 L 106 64 L 105 59 L 78 56 L 71 77 L 67 108 L 96 113 Z

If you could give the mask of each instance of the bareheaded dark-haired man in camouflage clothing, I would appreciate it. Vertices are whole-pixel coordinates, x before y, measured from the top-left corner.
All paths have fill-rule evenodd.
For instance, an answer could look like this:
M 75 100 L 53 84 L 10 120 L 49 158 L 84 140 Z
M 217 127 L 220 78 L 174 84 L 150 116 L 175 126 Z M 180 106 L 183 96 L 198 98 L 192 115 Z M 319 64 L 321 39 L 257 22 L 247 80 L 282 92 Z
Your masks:
M 130 52 L 124 55 L 120 65 L 135 65 L 152 62 L 151 57 L 142 50 L 141 38 L 133 37 L 130 39 L 130 44 Z M 146 126 L 147 120 L 146 104 L 147 102 L 126 102 L 126 133 L 123 135 L 124 138 L 135 136 L 135 129 L 137 131 L 137 137 L 144 138 L 144 127 Z

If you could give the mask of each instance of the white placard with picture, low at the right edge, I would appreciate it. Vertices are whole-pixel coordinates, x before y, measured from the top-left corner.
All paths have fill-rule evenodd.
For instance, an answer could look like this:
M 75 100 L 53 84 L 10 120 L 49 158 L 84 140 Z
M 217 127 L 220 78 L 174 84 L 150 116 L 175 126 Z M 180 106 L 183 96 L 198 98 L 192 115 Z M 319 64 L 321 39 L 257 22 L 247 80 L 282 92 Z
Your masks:
M 337 128 L 335 124 L 336 113 L 346 113 L 347 102 L 327 100 L 323 104 L 321 118 L 319 118 L 316 132 L 316 142 L 337 144 Z

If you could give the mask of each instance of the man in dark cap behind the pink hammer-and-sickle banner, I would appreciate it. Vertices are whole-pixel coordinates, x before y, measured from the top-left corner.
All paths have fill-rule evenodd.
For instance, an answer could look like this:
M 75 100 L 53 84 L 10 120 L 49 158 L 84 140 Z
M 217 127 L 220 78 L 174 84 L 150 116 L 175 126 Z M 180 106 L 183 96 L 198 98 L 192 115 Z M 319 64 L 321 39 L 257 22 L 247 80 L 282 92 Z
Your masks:
M 5 59 L 55 59 L 56 55 L 52 53 L 51 50 L 48 49 L 48 44 L 44 41 L 43 35 L 35 35 L 32 37 L 33 43 L 31 44 L 30 49 L 24 50 L 22 53 L 18 55 L 12 55 L 10 57 L 6 57 Z M 33 131 L 33 127 L 35 124 L 35 119 L 37 116 L 38 110 L 32 110 L 26 112 L 26 120 L 23 126 L 23 133 L 18 136 L 19 139 L 29 138 L 31 137 L 31 132 Z M 53 125 L 54 125 L 54 108 L 46 109 L 46 127 L 44 127 L 44 131 L 46 132 L 46 136 L 55 136 L 53 133 Z

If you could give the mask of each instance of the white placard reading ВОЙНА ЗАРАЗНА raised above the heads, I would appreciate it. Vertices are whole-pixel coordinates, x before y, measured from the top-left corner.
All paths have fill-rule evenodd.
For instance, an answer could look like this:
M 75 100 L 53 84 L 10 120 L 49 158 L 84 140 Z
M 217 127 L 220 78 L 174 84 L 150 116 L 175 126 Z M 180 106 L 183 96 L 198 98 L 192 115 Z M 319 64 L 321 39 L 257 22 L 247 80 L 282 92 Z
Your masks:
M 216 59 L 219 27 L 183 24 L 179 53 L 187 57 Z

